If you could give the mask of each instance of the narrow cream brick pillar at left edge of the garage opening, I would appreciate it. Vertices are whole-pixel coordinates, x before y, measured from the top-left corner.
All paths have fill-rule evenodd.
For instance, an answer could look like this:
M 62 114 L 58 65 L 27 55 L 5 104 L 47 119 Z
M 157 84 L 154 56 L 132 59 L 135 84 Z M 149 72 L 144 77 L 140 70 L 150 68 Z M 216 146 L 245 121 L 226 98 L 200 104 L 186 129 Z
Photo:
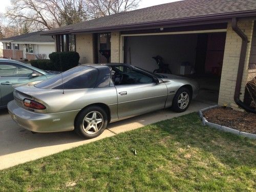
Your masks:
M 120 62 L 120 33 L 111 33 L 111 62 Z

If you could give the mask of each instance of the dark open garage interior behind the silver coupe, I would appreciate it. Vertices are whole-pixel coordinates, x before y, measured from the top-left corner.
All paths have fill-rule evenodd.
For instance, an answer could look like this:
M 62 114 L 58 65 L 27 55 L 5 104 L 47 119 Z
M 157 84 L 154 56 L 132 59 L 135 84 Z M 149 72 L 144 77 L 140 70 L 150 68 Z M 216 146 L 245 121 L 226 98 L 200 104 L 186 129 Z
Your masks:
M 200 84 L 197 100 L 218 103 L 226 32 L 132 35 L 123 38 L 124 63 L 148 71 L 158 69 L 152 57 L 161 56 L 174 75 L 195 79 Z

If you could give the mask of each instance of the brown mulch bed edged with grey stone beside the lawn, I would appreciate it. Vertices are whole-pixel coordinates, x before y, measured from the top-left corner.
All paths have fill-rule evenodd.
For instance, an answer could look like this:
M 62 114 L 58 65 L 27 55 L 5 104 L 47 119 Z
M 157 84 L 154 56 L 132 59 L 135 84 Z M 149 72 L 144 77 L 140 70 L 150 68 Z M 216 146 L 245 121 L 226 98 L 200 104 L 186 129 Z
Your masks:
M 214 108 L 203 112 L 203 116 L 209 122 L 256 134 L 256 114 L 234 111 L 231 108 Z

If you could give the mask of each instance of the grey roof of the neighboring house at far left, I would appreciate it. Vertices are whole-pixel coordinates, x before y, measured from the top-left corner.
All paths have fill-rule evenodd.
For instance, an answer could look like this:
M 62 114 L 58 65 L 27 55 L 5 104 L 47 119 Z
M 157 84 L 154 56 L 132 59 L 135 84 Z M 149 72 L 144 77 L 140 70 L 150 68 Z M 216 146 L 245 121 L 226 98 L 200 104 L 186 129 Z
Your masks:
M 54 42 L 54 39 L 51 36 L 42 36 L 40 35 L 41 31 L 36 31 L 32 33 L 27 33 L 23 35 L 17 35 L 13 37 L 3 38 L 0 41 L 2 42 Z

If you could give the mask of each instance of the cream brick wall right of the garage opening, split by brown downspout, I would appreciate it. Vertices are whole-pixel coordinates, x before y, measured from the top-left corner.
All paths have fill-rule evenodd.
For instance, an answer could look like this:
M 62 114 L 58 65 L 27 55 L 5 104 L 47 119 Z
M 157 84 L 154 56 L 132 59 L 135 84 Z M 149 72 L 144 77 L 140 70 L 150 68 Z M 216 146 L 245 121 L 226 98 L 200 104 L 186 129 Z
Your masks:
M 240 99 L 243 101 L 245 84 L 248 80 L 248 63 L 253 32 L 253 20 L 239 20 L 238 27 L 247 35 L 248 40 L 250 41 L 247 46 L 240 95 Z M 239 109 L 238 105 L 233 100 L 233 96 L 234 89 L 236 88 L 241 45 L 242 39 L 232 30 L 231 22 L 229 22 L 227 26 L 226 44 L 221 74 L 219 105 L 227 104 L 234 109 Z

